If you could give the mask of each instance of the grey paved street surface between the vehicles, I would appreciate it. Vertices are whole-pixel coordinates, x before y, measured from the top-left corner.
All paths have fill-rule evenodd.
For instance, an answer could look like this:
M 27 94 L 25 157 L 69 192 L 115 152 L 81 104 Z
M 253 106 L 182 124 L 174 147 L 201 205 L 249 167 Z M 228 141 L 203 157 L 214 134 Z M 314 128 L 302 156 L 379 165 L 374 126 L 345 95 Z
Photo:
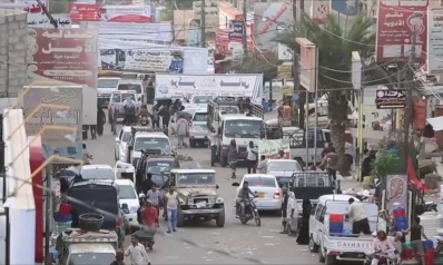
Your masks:
M 115 165 L 114 136 L 108 126 L 104 136 L 86 144 L 95 164 Z M 189 154 L 204 167 L 210 166 L 208 148 L 181 149 L 179 153 Z M 278 234 L 282 228 L 278 216 L 263 217 L 260 227 L 254 223 L 242 225 L 234 214 L 236 192 L 232 187 L 229 169 L 217 167 L 216 170 L 219 195 L 226 204 L 225 227 L 216 227 L 214 220 L 201 222 L 166 234 L 163 220 L 150 252 L 154 264 L 319 264 L 307 246 L 299 246 L 295 238 Z M 246 169 L 240 168 L 238 175 L 245 173 Z M 125 246 L 128 244 L 129 237 Z

